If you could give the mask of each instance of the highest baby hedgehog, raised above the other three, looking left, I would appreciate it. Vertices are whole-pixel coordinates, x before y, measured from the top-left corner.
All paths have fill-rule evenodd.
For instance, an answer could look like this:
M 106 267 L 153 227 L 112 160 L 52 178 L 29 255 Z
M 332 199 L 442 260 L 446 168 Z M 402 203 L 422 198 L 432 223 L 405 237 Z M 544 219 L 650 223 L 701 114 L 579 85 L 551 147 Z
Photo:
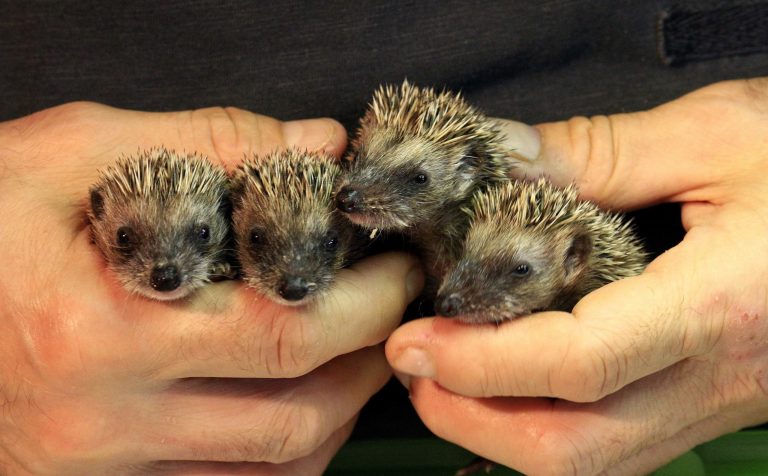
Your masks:
M 461 213 L 485 184 L 508 180 L 517 160 L 499 125 L 458 93 L 380 87 L 360 121 L 336 195 L 367 229 L 404 233 L 440 275 L 465 230 Z

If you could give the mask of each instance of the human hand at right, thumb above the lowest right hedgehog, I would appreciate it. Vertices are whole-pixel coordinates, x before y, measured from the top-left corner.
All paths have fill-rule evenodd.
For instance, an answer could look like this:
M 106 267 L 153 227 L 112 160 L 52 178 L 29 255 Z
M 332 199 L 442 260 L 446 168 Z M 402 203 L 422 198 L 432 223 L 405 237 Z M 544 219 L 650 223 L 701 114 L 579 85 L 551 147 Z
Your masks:
M 648 472 L 768 421 L 768 79 L 542 124 L 524 172 L 615 209 L 682 203 L 684 240 L 572 314 L 399 328 L 386 352 L 437 435 L 526 474 Z M 556 397 L 556 399 L 546 398 Z

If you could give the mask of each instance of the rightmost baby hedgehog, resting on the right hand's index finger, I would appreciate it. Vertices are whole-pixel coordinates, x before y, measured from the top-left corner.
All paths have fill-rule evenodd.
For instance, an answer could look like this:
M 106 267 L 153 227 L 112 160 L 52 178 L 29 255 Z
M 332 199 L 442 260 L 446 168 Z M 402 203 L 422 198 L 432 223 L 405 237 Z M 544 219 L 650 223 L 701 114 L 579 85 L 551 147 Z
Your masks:
M 510 181 L 478 193 L 461 259 L 435 309 L 468 323 L 570 311 L 594 289 L 640 274 L 647 256 L 630 223 L 580 201 L 576 187 Z

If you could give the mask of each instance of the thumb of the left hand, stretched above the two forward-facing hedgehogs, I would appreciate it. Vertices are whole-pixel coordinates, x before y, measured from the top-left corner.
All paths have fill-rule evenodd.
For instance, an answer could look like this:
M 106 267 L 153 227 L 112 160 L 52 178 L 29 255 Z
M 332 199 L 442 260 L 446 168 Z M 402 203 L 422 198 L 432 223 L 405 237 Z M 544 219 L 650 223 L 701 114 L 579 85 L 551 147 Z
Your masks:
M 30 136 L 35 150 L 22 147 Z M 234 167 L 246 155 L 296 146 L 339 157 L 344 128 L 333 119 L 281 122 L 237 108 L 147 113 L 96 103 L 70 103 L 0 124 L 9 161 L 24 161 L 43 190 L 61 202 L 66 192 L 78 201 L 97 171 L 122 155 L 166 147 L 196 152 Z M 54 158 L 51 161 L 50 158 Z

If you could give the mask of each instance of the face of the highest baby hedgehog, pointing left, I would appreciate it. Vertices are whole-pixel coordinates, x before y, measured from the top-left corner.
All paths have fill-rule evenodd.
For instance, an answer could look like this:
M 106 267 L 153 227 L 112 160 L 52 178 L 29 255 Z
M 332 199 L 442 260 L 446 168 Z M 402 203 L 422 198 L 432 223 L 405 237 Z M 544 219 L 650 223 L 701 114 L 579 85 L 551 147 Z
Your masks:
M 475 187 L 468 145 L 440 146 L 381 129 L 367 131 L 360 144 L 336 204 L 365 228 L 402 230 L 431 223 Z

